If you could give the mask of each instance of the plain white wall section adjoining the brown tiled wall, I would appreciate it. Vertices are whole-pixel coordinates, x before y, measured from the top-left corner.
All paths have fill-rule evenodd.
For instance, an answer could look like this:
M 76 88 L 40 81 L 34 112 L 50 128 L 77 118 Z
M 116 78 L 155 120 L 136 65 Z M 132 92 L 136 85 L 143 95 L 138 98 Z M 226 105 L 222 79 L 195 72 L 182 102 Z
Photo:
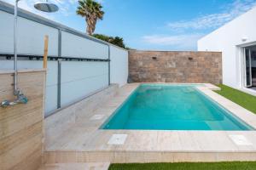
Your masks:
M 110 46 L 110 81 L 124 86 L 128 78 L 128 51 Z

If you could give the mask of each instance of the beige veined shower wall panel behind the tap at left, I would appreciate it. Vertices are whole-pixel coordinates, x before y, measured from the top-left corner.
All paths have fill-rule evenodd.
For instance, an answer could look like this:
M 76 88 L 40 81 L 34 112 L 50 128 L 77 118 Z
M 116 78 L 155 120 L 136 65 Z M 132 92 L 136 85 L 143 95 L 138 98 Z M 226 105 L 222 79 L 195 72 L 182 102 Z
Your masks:
M 1 73 L 0 98 L 14 99 L 13 73 Z M 27 104 L 0 107 L 1 169 L 36 169 L 43 149 L 45 71 L 18 72 Z

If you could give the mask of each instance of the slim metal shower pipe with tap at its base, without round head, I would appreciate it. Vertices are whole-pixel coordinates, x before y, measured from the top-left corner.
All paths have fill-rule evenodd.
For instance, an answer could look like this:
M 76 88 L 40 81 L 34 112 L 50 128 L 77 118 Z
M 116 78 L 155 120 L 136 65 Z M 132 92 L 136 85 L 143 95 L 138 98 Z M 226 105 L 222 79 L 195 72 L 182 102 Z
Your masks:
M 15 61 L 14 61 L 14 94 L 17 97 L 14 101 L 3 100 L 1 103 L 1 107 L 7 107 L 9 105 L 17 105 L 17 104 L 26 104 L 28 99 L 20 89 L 18 88 L 17 78 L 18 78 L 18 69 L 17 69 L 17 20 L 18 20 L 18 3 L 20 0 L 15 0 L 15 23 L 14 23 L 14 54 L 15 54 Z

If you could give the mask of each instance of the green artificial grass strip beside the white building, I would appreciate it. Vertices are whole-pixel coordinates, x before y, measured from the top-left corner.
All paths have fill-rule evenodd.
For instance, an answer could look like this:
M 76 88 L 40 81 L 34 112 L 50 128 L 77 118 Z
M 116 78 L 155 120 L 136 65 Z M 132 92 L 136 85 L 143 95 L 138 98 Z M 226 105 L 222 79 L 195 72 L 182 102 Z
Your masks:
M 224 96 L 227 99 L 235 102 L 238 105 L 241 105 L 248 111 L 252 111 L 256 114 L 256 97 L 250 94 L 246 94 L 235 88 L 230 88 L 223 84 L 218 85 L 221 90 L 216 90 L 215 92 Z

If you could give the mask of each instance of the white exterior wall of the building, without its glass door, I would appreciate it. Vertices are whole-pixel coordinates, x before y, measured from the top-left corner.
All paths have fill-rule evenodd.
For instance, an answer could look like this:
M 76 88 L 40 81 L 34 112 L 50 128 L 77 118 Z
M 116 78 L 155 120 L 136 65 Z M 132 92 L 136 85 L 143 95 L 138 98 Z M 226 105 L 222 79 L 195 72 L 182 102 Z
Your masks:
M 247 37 L 247 41 L 241 39 Z M 256 42 L 256 8 L 198 41 L 198 51 L 223 53 L 223 82 L 241 88 L 241 47 Z

